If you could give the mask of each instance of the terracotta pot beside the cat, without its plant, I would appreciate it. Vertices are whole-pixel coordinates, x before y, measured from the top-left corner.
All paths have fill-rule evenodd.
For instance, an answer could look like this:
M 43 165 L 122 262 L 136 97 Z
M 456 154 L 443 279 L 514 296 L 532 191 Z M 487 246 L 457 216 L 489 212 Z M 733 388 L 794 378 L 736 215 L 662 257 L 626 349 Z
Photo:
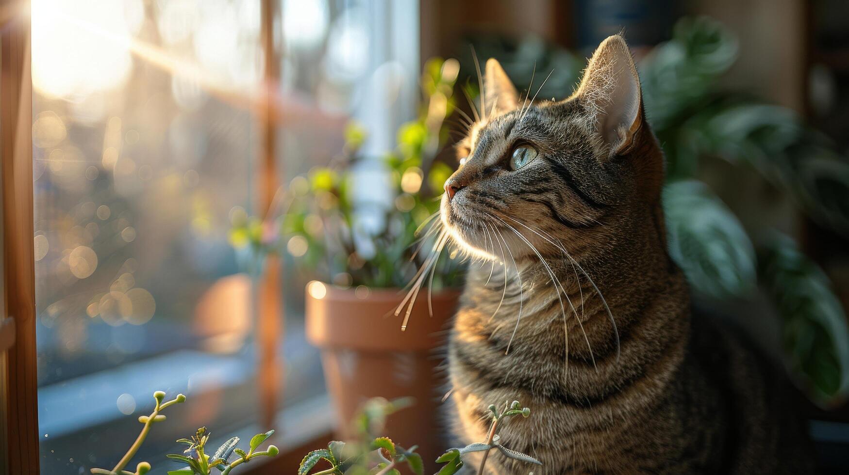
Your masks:
M 322 350 L 340 437 L 351 435 L 351 417 L 369 398 L 412 396 L 412 407 L 389 417 L 385 435 L 403 447 L 419 445 L 425 467 L 433 466 L 447 447 L 439 411 L 444 380 L 436 374 L 441 362 L 437 349 L 447 337 L 459 293 L 432 297 L 433 316 L 427 294 L 419 293 L 402 332 L 403 313 L 393 314 L 403 299 L 399 289 L 357 292 L 322 282 L 306 286 L 306 337 Z

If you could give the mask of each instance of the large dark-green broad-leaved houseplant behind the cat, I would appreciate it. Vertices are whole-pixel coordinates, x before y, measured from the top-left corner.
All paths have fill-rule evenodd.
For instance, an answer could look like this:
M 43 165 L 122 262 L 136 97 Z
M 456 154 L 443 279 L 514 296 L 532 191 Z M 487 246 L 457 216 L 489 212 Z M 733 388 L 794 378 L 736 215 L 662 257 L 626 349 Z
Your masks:
M 473 43 L 481 56 L 498 58 L 520 87 L 535 64 L 537 73 L 554 69 L 541 98 L 570 91 L 584 64 L 538 39 Z M 745 299 L 757 283 L 765 286 L 797 380 L 818 404 L 834 404 L 849 392 L 849 330 L 828 278 L 790 237 L 761 243 L 758 232 L 753 243 L 734 212 L 697 178 L 717 160 L 755 170 L 813 221 L 849 236 L 849 160 L 792 110 L 718 87 L 737 50 L 716 21 L 685 18 L 670 41 L 638 64 L 646 115 L 666 154 L 670 254 L 704 297 Z

